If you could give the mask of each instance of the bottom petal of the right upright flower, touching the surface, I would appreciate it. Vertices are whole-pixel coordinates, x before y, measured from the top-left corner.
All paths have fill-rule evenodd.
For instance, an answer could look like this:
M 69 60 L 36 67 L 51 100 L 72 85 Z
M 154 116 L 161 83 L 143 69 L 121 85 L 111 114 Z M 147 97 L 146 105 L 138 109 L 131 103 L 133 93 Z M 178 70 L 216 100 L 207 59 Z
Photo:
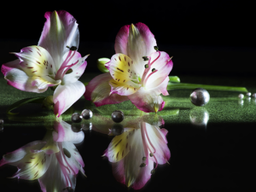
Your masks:
M 143 88 L 137 90 L 135 94 L 128 96 L 131 102 L 143 112 L 155 112 L 162 110 L 165 102 L 162 97 L 153 90 L 144 90 Z

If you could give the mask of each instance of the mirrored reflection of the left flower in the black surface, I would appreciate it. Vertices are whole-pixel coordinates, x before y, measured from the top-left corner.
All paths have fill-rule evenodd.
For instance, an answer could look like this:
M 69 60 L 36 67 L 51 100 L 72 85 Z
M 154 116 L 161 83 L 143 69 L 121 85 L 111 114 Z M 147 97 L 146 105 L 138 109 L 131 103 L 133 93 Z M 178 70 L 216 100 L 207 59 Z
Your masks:
M 84 132 L 74 133 L 66 122 L 55 122 L 55 131 L 48 131 L 42 141 L 3 155 L 0 166 L 17 166 L 13 177 L 38 179 L 43 191 L 75 189 L 76 175 L 84 174 L 84 161 L 73 143 L 84 140 Z

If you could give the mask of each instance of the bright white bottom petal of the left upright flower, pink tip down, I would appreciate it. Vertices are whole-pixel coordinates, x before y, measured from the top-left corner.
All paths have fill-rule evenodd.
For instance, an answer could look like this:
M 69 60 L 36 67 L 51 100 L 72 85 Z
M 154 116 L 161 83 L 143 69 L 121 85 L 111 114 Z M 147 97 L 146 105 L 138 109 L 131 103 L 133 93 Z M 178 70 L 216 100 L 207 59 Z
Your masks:
M 74 102 L 77 102 L 83 96 L 84 91 L 84 84 L 80 81 L 74 82 L 73 84 L 59 84 L 53 96 L 55 114 L 60 117 Z

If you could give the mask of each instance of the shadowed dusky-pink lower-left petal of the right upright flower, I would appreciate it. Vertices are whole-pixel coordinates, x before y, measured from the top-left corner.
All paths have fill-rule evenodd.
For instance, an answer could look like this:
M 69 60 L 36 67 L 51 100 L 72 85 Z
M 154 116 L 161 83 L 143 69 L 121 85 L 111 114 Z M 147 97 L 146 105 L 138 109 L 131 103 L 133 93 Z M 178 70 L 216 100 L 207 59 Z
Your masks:
M 109 96 L 111 87 L 108 82 L 111 79 L 110 73 L 103 73 L 96 76 L 86 85 L 84 98 L 94 102 L 96 107 L 128 100 L 127 96 L 119 96 L 118 94 L 111 94 Z

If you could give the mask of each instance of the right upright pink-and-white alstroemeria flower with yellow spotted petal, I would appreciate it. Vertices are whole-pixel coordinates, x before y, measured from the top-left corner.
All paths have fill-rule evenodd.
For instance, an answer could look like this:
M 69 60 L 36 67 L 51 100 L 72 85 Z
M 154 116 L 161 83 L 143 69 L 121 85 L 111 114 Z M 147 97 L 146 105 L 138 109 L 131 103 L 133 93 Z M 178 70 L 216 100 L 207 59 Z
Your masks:
M 158 112 L 168 95 L 166 86 L 172 70 L 172 58 L 158 51 L 154 35 L 143 23 L 123 26 L 115 39 L 115 52 L 106 63 L 109 73 L 92 79 L 85 99 L 96 106 L 131 100 L 144 112 Z

